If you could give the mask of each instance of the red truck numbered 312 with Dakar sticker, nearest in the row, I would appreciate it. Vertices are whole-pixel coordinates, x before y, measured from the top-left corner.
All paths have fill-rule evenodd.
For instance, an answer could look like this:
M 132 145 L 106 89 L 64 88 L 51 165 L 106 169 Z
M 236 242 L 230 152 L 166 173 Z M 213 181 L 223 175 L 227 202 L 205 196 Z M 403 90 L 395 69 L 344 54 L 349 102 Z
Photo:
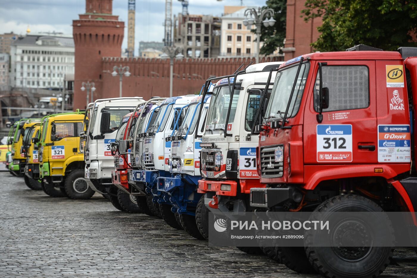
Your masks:
M 251 189 L 250 205 L 409 211 L 416 225 L 417 48 L 347 51 L 311 53 L 279 67 L 259 126 L 258 173 L 267 187 Z M 394 251 L 304 243 L 276 253 L 292 270 L 325 277 L 377 276 Z

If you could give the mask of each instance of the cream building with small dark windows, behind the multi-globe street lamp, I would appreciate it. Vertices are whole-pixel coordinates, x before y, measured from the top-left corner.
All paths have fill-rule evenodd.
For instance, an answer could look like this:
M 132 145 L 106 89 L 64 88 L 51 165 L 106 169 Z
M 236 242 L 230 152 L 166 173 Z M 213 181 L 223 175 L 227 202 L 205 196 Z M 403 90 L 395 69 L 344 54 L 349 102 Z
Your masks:
M 221 57 L 256 56 L 255 25 L 243 25 L 245 10 L 256 7 L 224 6 L 221 17 Z M 262 43 L 261 43 L 262 47 Z

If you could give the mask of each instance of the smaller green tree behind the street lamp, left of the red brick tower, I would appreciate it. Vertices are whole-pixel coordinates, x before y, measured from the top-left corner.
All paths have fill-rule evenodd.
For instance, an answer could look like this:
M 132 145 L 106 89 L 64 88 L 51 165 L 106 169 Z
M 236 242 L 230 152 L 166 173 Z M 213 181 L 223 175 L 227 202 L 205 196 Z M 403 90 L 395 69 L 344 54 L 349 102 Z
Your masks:
M 261 48 L 261 54 L 269 55 L 277 48 L 284 47 L 286 32 L 286 0 L 267 0 L 266 6 L 263 8 L 271 8 L 275 11 L 275 25 L 268 28 L 262 26 L 261 28 L 261 42 L 264 42 L 264 45 Z M 252 32 L 254 31 L 255 30 L 252 30 Z

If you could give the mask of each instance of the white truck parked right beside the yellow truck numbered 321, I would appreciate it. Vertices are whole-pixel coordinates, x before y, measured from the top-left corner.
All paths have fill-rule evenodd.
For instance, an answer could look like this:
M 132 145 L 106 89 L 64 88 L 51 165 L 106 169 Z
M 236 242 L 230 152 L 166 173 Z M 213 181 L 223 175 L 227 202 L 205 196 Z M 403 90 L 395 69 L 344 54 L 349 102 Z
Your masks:
M 105 197 L 114 195 L 111 182 L 114 169 L 110 146 L 116 139 L 117 129 L 123 116 L 132 112 L 142 97 L 98 99 L 85 117 L 88 129 L 81 137 L 85 140 L 85 180 L 95 192 Z M 87 113 L 86 113 L 87 115 Z

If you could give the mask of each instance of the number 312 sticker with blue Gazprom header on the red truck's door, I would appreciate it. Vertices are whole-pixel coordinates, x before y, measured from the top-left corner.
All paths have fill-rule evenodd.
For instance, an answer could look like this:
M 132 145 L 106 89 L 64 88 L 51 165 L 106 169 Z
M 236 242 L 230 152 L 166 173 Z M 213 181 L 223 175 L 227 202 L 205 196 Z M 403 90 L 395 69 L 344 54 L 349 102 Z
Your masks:
M 352 162 L 352 125 L 317 125 L 317 162 Z

